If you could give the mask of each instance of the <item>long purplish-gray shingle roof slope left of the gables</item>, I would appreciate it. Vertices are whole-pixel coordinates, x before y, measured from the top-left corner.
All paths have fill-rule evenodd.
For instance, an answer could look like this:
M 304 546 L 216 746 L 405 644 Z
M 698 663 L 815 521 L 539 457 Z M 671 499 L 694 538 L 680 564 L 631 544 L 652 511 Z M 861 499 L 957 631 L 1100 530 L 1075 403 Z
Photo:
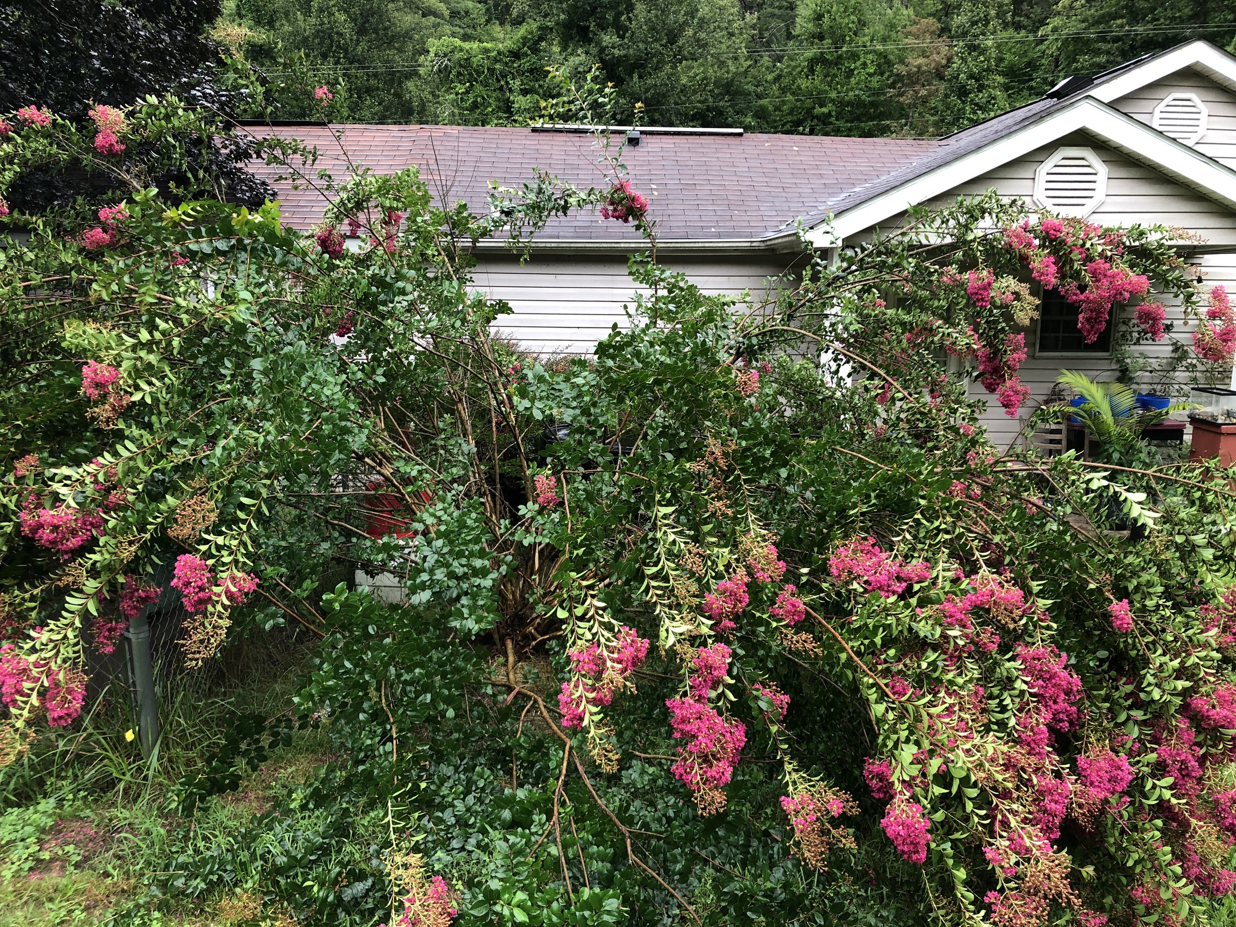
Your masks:
M 294 137 L 319 151 L 318 169 L 336 180 L 349 159 L 377 173 L 420 169 L 439 201 L 465 200 L 483 213 L 489 180 L 519 187 L 533 168 L 581 188 L 608 187 L 592 136 L 529 129 L 470 126 L 303 125 L 250 127 Z M 336 132 L 341 131 L 341 137 Z M 792 230 L 848 193 L 934 154 L 939 142 L 800 135 L 658 135 L 645 131 L 623 154 L 633 189 L 648 197 L 661 241 L 755 241 Z M 279 169 L 251 168 L 271 180 L 287 221 L 302 230 L 321 220 L 325 197 L 304 182 L 276 180 Z M 545 240 L 639 242 L 630 226 L 577 214 L 555 219 Z

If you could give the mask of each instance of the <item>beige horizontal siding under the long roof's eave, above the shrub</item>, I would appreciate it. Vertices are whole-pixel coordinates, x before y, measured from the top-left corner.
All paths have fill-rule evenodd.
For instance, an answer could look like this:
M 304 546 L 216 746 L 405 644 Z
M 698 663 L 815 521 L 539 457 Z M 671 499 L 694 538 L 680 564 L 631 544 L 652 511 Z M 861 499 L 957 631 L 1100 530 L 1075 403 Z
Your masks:
M 775 289 L 776 279 L 787 279 L 794 262 L 789 253 L 669 261 L 708 295 L 750 290 L 755 300 Z M 646 292 L 627 274 L 623 255 L 534 256 L 523 266 L 514 256 L 482 257 L 473 281 L 477 290 L 510 304 L 513 311 L 493 321 L 494 331 L 544 353 L 591 353 L 611 326 L 625 328 L 624 307 Z

